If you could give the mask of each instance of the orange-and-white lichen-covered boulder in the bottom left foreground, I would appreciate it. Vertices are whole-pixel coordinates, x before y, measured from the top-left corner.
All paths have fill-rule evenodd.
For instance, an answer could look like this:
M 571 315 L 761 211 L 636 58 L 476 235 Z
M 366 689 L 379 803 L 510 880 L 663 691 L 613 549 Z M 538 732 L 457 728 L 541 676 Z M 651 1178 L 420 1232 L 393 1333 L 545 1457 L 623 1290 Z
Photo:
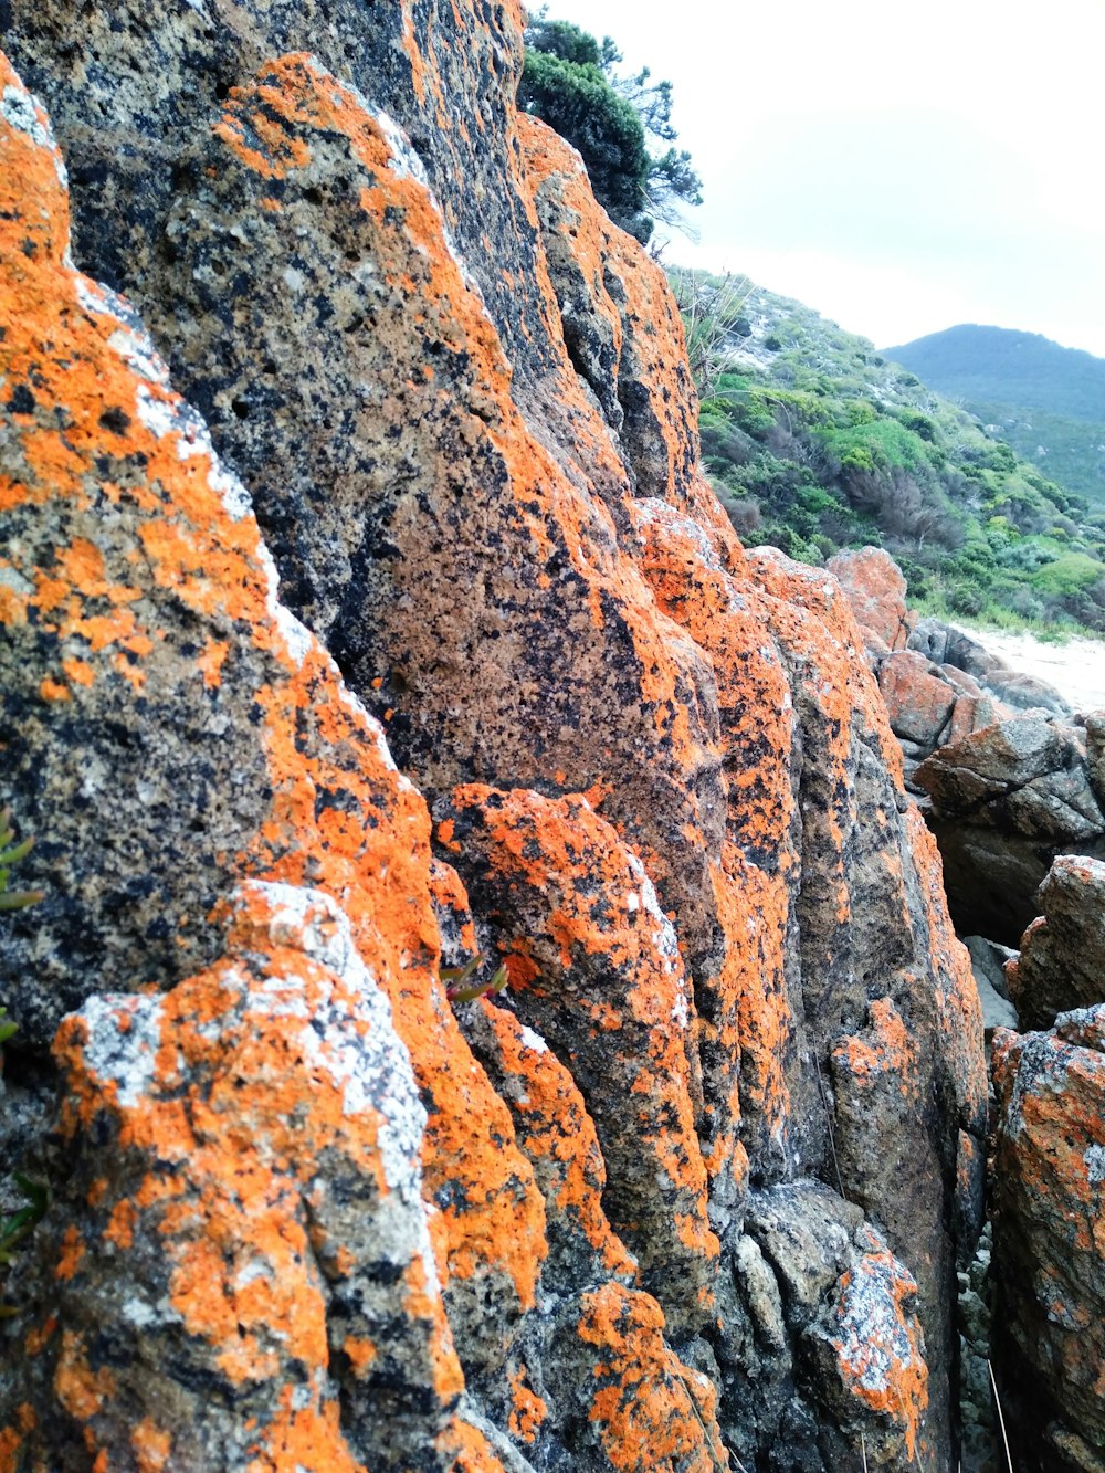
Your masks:
M 3 1385 L 52 1414 L 9 1466 L 448 1467 L 483 1439 L 386 994 L 320 891 L 253 882 L 228 919 L 215 966 L 60 1030 L 66 1173 Z

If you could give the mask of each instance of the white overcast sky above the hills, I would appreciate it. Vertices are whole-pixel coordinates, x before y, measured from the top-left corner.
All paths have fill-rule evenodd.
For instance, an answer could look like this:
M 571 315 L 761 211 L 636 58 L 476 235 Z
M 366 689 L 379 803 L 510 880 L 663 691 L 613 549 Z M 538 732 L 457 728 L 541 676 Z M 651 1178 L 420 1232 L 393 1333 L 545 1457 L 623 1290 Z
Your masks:
M 535 6 L 536 7 L 536 6 Z M 551 0 L 675 87 L 700 243 L 885 348 L 955 323 L 1105 356 L 1105 0 Z

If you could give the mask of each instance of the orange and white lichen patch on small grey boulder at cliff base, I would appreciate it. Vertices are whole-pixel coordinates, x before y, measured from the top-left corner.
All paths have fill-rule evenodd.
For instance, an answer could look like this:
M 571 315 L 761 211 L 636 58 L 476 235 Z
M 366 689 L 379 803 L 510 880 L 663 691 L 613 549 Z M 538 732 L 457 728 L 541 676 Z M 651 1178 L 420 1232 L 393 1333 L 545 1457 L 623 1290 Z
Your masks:
M 924 1336 L 913 1312 L 916 1283 L 874 1234 L 868 1236 L 872 1251 L 838 1284 L 832 1346 L 844 1386 L 902 1429 L 912 1458 L 928 1407 Z

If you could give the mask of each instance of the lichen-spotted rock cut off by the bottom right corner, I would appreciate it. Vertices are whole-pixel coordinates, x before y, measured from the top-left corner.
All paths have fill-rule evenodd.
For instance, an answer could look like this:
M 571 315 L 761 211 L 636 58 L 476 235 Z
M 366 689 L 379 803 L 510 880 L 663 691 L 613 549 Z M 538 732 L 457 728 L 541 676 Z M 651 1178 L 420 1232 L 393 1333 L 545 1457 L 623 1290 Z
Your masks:
M 1105 1008 L 994 1037 L 994 1357 L 1017 1467 L 1105 1466 Z

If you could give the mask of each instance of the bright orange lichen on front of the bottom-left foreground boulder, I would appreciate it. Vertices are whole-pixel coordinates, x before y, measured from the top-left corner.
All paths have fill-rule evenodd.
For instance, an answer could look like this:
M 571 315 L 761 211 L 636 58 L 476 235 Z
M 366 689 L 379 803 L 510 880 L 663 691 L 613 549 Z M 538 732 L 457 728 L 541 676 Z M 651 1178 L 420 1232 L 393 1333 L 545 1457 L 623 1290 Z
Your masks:
M 158 1234 L 169 1304 L 184 1332 L 209 1346 L 211 1365 L 242 1398 L 256 1388 L 264 1401 L 289 1364 L 324 1382 L 330 1349 L 315 1255 L 334 1270 L 345 1262 L 348 1273 L 358 1271 L 346 1245 L 340 1245 L 345 1255 L 330 1258 L 324 1217 L 308 1242 L 301 1198 L 317 1190 L 320 1159 L 345 1159 L 346 1170 L 365 1186 L 374 1183 L 382 1198 L 392 1190 L 380 1159 L 382 1117 L 367 1100 L 351 1109 L 343 1075 L 333 1061 L 327 1064 L 326 1049 L 340 1049 L 342 1037 L 332 1043 L 327 1034 L 318 1044 L 295 1022 L 343 1018 L 349 1038 L 371 1038 L 376 1027 L 359 1010 L 355 978 L 346 981 L 306 955 L 308 943 L 321 944 L 311 937 L 336 934 L 336 912 L 329 901 L 308 904 L 302 915 L 281 909 L 290 901 L 280 897 L 295 894 L 264 887 L 243 893 L 228 938 L 245 949 L 245 960 L 227 960 L 161 999 L 127 999 L 105 1016 L 102 1027 L 115 1025 L 118 1049 L 137 1049 L 149 1059 L 152 1072 L 141 1090 L 124 1091 L 118 1080 L 97 1072 L 83 1016 L 62 1028 L 56 1044 L 69 1077 L 63 1128 L 72 1136 L 83 1122 L 110 1112 L 121 1146 L 158 1162 L 137 1192 L 110 1205 L 103 1236 L 125 1245 L 138 1231 Z M 334 955 L 345 953 L 337 947 Z M 264 999 L 264 1008 L 250 999 Z M 143 1052 L 152 1033 L 159 1044 Z M 187 1167 L 187 1175 L 166 1171 L 168 1164 Z M 100 1209 L 106 1206 L 105 1200 Z M 68 1277 L 80 1270 L 78 1258 Z M 449 1405 L 463 1377 L 441 1298 L 420 1255 L 405 1277 L 410 1287 L 399 1293 L 407 1335 L 421 1349 L 424 1380 Z M 88 1421 L 97 1398 L 113 1392 L 110 1373 L 93 1376 L 80 1345 L 66 1336 L 55 1389 L 75 1417 Z M 370 1374 L 370 1342 L 346 1337 L 346 1346 L 357 1374 Z M 293 1386 L 286 1391 L 290 1395 Z M 292 1466 L 295 1458 L 283 1458 L 321 1438 L 332 1449 L 327 1467 L 354 1469 L 336 1418 L 336 1402 L 318 1395 L 295 1414 L 287 1404 L 261 1424 L 255 1466 L 268 1467 L 270 1451 L 274 1469 Z

